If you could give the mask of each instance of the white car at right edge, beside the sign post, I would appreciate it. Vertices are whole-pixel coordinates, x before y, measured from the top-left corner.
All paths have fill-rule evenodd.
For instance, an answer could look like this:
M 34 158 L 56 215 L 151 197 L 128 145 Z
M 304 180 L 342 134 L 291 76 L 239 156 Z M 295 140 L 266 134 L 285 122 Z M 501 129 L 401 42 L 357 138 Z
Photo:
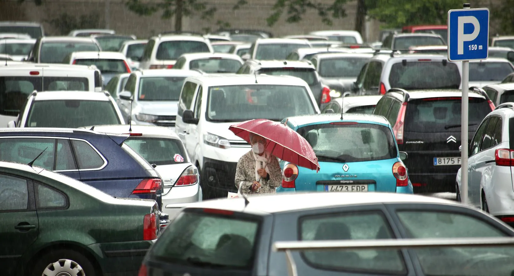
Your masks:
M 468 203 L 514 225 L 512 165 L 514 103 L 500 104 L 482 121 L 469 144 Z M 461 200 L 461 169 L 456 177 L 457 201 Z

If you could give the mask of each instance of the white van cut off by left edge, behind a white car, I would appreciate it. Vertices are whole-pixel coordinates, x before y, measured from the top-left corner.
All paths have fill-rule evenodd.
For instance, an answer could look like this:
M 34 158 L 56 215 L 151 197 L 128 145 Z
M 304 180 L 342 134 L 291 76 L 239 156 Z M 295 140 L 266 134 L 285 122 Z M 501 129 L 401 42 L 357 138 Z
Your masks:
M 0 125 L 15 120 L 34 90 L 101 91 L 102 75 L 94 66 L 9 64 L 0 66 Z

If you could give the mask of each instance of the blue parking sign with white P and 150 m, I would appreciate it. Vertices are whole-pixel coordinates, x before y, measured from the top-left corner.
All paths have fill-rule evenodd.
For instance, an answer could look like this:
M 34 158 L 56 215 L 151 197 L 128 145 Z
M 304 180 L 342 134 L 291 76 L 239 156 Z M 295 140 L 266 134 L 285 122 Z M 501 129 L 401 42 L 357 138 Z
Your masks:
M 489 9 L 448 11 L 448 60 L 485 60 L 488 44 Z

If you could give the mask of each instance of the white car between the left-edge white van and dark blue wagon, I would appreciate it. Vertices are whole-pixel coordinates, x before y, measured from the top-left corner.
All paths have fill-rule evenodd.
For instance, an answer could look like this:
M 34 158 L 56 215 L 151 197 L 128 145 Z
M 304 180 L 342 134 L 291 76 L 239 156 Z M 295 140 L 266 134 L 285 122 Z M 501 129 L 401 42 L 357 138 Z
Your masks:
M 15 121 L 7 127 L 64 127 L 124 124 L 107 91 L 34 91 Z

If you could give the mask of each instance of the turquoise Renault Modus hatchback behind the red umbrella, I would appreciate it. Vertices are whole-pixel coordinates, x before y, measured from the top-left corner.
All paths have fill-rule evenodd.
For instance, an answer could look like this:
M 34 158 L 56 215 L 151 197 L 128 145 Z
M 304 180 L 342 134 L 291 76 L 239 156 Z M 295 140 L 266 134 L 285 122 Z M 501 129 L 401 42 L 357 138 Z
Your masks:
M 366 114 L 317 114 L 282 123 L 304 137 L 318 157 L 316 173 L 281 161 L 277 192 L 392 192 L 412 194 L 407 168 L 388 120 Z

